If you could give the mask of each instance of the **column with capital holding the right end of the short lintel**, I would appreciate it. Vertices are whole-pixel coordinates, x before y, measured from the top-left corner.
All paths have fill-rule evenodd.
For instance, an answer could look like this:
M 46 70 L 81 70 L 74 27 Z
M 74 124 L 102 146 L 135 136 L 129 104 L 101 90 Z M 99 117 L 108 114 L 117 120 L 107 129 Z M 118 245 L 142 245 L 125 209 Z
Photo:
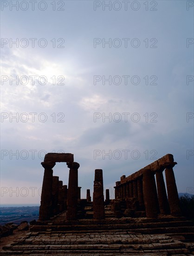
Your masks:
M 77 162 L 68 162 L 67 167 L 69 171 L 69 184 L 67 194 L 67 220 L 77 219 L 78 206 L 78 168 Z

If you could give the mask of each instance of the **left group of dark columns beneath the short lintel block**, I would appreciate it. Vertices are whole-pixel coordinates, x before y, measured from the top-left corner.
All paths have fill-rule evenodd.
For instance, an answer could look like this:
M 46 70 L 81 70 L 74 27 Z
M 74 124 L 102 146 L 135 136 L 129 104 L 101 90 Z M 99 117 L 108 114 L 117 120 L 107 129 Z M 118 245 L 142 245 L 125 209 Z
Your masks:
M 74 220 L 77 215 L 78 199 L 80 199 L 80 189 L 78 187 L 78 168 L 77 162 L 67 163 L 69 171 L 69 184 L 63 185 L 58 176 L 53 176 L 52 168 L 55 162 L 42 162 L 45 168 L 41 202 L 39 208 L 39 220 L 49 220 L 50 217 L 67 209 L 67 219 Z

